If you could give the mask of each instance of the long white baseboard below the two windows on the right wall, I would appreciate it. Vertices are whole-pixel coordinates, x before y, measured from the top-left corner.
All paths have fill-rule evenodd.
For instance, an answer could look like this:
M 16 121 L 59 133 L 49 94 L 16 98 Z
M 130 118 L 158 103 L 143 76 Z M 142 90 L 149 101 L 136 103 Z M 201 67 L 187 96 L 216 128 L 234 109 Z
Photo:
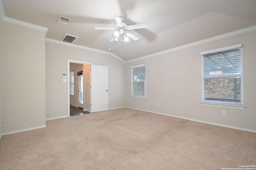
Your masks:
M 147 111 L 147 112 L 150 112 L 150 113 L 156 113 L 156 114 L 166 115 L 166 116 L 171 116 L 171 117 L 177 117 L 177 118 L 180 118 L 180 119 L 186 119 L 186 120 L 191 120 L 191 121 L 197 121 L 197 122 L 201 122 L 201 123 L 207 123 L 207 124 L 216 125 L 216 126 L 228 127 L 228 128 L 231 128 L 231 129 L 238 129 L 238 130 L 241 130 L 241 131 L 248 131 L 248 132 L 256 133 L 255 130 L 246 129 L 246 128 L 242 128 L 242 127 L 235 127 L 235 126 L 229 126 L 229 125 L 222 125 L 222 124 L 212 123 L 212 122 L 208 122 L 208 121 L 201 121 L 201 120 L 197 120 L 197 119 L 190 119 L 190 118 L 182 117 L 182 116 L 169 115 L 169 114 L 166 114 L 166 113 L 160 113 L 160 112 L 156 112 L 156 111 L 150 111 L 150 110 L 144 110 L 144 109 L 137 109 L 137 108 L 134 108 L 134 107 L 127 107 L 127 108 L 135 109 L 135 110 L 140 110 L 140 111 Z

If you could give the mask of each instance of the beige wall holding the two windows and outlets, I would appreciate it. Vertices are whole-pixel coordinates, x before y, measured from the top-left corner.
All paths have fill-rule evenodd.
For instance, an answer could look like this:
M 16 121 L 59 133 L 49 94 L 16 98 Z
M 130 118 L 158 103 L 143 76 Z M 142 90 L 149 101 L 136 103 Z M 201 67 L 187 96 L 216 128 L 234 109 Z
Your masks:
M 201 106 L 199 53 L 243 45 L 245 109 Z M 126 64 L 126 106 L 256 131 L 256 31 Z M 146 64 L 146 100 L 130 98 L 130 66 Z M 136 103 L 138 100 L 138 104 Z M 159 106 L 156 106 L 156 103 Z M 226 111 L 222 116 L 221 111 Z

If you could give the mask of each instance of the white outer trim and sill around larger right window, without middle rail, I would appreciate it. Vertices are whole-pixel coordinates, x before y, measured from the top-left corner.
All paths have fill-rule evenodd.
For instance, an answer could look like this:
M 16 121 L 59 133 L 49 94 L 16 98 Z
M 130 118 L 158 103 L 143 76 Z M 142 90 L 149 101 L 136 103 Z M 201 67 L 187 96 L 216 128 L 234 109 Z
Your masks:
M 237 103 L 228 103 L 228 102 L 218 102 L 218 101 L 204 101 L 205 98 L 205 94 L 204 94 L 204 78 L 207 78 L 208 76 L 204 75 L 204 61 L 203 61 L 203 56 L 207 55 L 207 54 L 211 54 L 211 53 L 216 53 L 216 52 L 221 52 L 221 51 L 228 51 L 230 49 L 236 49 L 236 48 L 242 48 L 242 44 L 238 44 L 238 45 L 232 45 L 232 46 L 228 46 L 228 47 L 222 47 L 222 48 L 218 48 L 218 49 L 213 49 L 213 50 L 208 50 L 208 51 L 203 51 L 200 52 L 200 56 L 201 56 L 201 102 L 200 104 L 202 106 L 216 106 L 216 107 L 228 107 L 228 108 L 236 108 L 236 109 L 244 109 L 246 106 L 244 106 L 243 104 L 243 98 L 244 98 L 244 94 L 243 94 L 243 82 L 242 82 L 242 102 L 240 104 Z M 243 57 L 242 57 L 243 59 Z M 242 60 L 241 59 L 241 60 Z M 241 61 L 242 62 L 242 61 Z M 242 62 L 242 70 L 243 70 L 243 62 Z M 243 72 L 241 73 L 242 79 L 243 79 Z M 212 78 L 214 78 L 214 76 L 211 76 Z M 223 76 L 223 77 L 229 77 L 229 76 Z M 232 76 L 230 76 L 232 77 Z

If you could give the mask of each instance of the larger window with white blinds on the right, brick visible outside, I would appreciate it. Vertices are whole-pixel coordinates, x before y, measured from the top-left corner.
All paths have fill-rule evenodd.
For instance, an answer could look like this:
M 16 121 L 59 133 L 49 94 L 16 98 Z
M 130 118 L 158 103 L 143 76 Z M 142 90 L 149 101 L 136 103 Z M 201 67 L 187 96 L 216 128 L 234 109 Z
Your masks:
M 243 105 L 242 44 L 200 53 L 202 102 Z

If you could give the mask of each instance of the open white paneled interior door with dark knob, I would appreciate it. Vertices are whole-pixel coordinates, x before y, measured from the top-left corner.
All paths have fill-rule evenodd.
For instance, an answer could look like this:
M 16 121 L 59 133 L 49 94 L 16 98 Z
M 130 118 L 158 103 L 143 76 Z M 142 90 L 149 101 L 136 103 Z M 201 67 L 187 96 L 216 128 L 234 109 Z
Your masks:
M 91 112 L 108 110 L 108 66 L 91 65 Z

